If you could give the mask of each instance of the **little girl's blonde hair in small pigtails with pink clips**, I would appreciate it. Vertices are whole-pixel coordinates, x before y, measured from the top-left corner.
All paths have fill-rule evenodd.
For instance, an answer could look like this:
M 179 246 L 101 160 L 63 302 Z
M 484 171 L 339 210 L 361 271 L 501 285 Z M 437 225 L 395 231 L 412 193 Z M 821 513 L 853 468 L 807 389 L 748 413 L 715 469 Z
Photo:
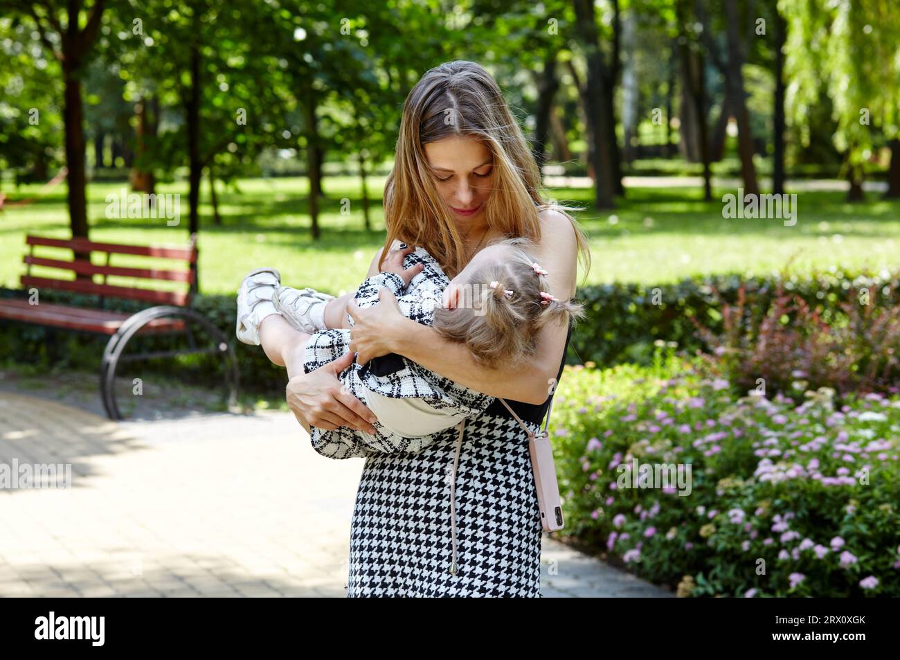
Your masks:
M 546 323 L 581 319 L 584 305 L 552 299 L 545 271 L 527 251 L 534 248 L 527 239 L 490 245 L 503 246 L 502 256 L 485 260 L 464 282 L 463 302 L 453 310 L 436 309 L 431 327 L 464 343 L 483 365 L 515 369 L 536 358 L 537 336 Z

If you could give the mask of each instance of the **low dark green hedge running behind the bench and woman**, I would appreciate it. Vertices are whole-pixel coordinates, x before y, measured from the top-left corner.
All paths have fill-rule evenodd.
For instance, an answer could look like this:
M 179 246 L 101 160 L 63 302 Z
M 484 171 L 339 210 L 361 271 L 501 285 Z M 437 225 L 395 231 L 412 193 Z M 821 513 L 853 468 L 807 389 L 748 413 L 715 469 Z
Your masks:
M 848 275 L 840 271 L 820 273 L 806 278 L 786 277 L 788 290 L 796 292 L 808 303 L 821 308 L 827 316 L 837 310 L 838 303 L 855 295 L 859 287 L 869 288 L 873 300 L 895 302 L 900 286 L 897 276 L 880 274 Z M 695 277 L 677 284 L 590 285 L 578 289 L 576 297 L 586 303 L 587 316 L 572 332 L 568 364 L 593 362 L 612 366 L 624 362 L 648 364 L 654 343 L 693 350 L 703 346 L 692 319 L 711 330 L 721 328 L 719 312 L 722 299 L 734 303 L 743 285 L 752 309 L 768 309 L 778 276 L 744 277 L 722 275 Z M 0 298 L 23 296 L 22 291 L 0 288 Z M 41 300 L 93 307 L 94 296 L 67 292 L 42 292 Z M 131 301 L 107 299 L 107 308 L 138 311 L 144 306 Z M 242 387 L 255 392 L 275 392 L 284 388 L 283 367 L 275 366 L 260 348 L 250 347 L 234 339 L 235 295 L 195 297 L 193 309 L 211 319 L 231 339 L 238 354 Z M 39 326 L 0 320 L 0 361 L 46 361 L 44 350 L 47 330 Z M 74 333 L 57 333 L 63 342 L 61 352 L 71 366 L 94 369 L 99 365 L 104 341 Z M 174 339 L 159 339 L 160 346 L 172 346 Z M 167 342 L 167 344 L 166 344 Z

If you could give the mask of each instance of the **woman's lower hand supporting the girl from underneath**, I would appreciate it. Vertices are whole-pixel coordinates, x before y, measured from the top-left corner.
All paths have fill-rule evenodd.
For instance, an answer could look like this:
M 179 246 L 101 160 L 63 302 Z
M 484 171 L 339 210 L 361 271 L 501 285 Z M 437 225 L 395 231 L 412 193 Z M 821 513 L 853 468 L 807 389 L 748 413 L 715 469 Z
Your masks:
M 350 350 L 337 360 L 288 381 L 285 388 L 288 407 L 307 432 L 311 432 L 310 426 L 325 430 L 349 426 L 375 434 L 374 412 L 338 380 L 338 374 L 353 364 L 353 357 Z

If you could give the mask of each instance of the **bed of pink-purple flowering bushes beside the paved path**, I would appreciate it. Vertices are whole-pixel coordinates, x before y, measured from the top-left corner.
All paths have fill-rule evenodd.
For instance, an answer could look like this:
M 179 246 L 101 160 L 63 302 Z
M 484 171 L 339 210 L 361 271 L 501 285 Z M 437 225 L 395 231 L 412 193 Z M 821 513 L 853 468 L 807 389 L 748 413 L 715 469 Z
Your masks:
M 900 399 L 739 397 L 669 358 L 567 366 L 552 426 L 565 534 L 645 579 L 900 596 Z

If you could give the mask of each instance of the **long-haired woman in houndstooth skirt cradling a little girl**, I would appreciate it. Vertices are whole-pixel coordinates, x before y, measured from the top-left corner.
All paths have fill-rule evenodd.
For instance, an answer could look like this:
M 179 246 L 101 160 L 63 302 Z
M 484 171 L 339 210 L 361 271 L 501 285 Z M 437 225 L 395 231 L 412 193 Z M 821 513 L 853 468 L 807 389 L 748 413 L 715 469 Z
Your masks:
M 565 207 L 543 202 L 539 184 L 534 158 L 491 75 L 467 61 L 429 70 L 403 107 L 385 185 L 385 248 L 367 276 L 380 271 L 391 249 L 418 245 L 453 277 L 490 240 L 523 236 L 538 245 L 551 293 L 571 299 L 578 257 L 585 258 L 585 272 L 590 267 L 587 241 Z M 353 304 L 352 294 L 328 301 L 328 327 L 341 327 L 345 312 L 355 325 L 345 357 L 309 374 L 300 369 L 287 385 L 288 404 L 305 429 L 371 429 L 371 411 L 341 392 L 336 376 L 354 353 L 360 365 L 378 360 L 373 365 L 388 369 L 391 357 L 407 357 L 506 399 L 529 428 L 539 428 L 571 326 L 542 330 L 534 364 L 491 369 L 461 344 L 403 317 L 391 292 L 382 289 L 380 298 L 367 309 Z M 283 322 L 272 318 L 270 325 Z M 417 454 L 366 458 L 351 528 L 348 596 L 540 596 L 542 527 L 527 435 L 500 401 L 466 422 L 458 457 L 455 434 L 442 431 Z

